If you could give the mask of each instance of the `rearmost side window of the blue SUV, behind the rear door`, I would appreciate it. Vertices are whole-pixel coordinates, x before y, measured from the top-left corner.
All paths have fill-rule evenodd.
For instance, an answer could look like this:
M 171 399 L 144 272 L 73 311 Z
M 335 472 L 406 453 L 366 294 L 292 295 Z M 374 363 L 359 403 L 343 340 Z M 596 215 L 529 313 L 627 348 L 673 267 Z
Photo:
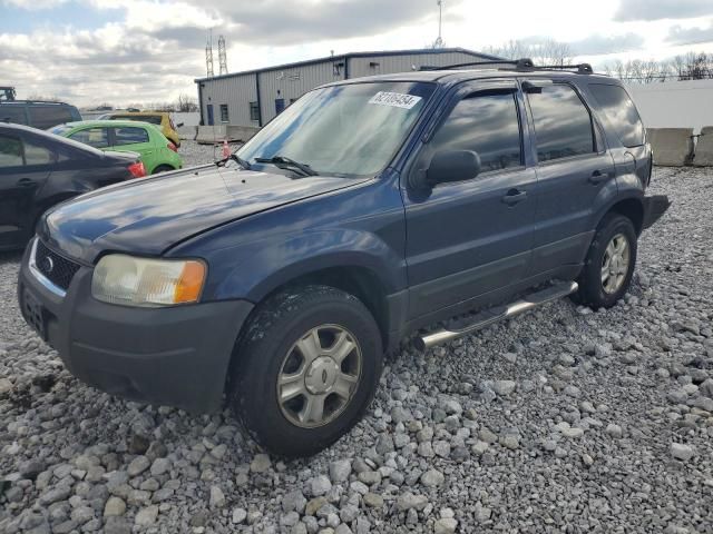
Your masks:
M 625 147 L 637 147 L 644 144 L 644 125 L 636 106 L 623 87 L 606 83 L 592 83 L 589 90 L 596 98 L 604 113 L 609 119 L 614 131 Z

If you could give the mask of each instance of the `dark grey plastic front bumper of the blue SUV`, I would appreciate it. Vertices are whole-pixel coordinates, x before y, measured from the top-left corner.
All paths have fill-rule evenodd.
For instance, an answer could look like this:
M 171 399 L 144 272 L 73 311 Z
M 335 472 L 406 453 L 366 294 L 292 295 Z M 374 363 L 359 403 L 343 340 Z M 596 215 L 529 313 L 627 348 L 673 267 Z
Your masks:
M 20 309 L 72 375 L 131 400 L 193 413 L 223 405 L 231 355 L 251 303 L 110 305 L 91 296 L 92 269 L 84 266 L 62 296 L 31 273 L 31 249 L 20 269 Z

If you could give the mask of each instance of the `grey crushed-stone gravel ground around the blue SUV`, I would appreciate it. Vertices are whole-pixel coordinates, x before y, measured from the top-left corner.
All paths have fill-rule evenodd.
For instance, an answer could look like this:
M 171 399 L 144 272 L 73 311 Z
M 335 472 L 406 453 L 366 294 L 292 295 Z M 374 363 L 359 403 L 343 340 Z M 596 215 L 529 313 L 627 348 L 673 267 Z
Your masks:
M 674 205 L 624 303 L 404 346 L 364 421 L 290 463 L 228 413 L 72 378 L 0 256 L 0 532 L 713 532 L 713 171 L 658 169 L 652 191 Z

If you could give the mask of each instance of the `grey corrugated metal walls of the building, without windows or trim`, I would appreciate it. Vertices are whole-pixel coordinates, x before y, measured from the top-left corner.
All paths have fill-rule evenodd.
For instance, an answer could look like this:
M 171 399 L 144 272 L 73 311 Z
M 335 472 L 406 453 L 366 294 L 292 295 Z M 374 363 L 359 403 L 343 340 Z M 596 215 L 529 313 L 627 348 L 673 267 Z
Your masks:
M 348 57 L 349 78 L 373 75 L 408 72 L 416 66 L 443 66 L 478 61 L 478 57 L 460 51 L 440 53 L 373 55 Z M 228 105 L 229 125 L 257 126 L 250 120 L 250 102 L 257 100 L 255 77 L 260 81 L 260 102 L 263 126 L 276 115 L 277 100 L 290 106 L 305 92 L 323 83 L 344 79 L 343 57 L 325 59 L 319 63 L 287 67 L 284 69 L 248 72 L 201 81 L 203 118 L 207 123 L 207 105 L 213 105 L 215 122 L 221 121 L 221 103 Z

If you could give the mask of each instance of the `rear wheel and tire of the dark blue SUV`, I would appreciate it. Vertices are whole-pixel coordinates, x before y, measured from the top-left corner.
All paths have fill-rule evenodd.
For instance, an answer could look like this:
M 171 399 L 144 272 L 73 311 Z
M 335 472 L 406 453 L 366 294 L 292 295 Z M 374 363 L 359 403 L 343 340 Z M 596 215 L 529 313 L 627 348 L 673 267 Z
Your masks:
M 628 217 L 607 214 L 602 219 L 577 279 L 579 289 L 575 294 L 576 301 L 594 309 L 611 308 L 624 296 L 632 284 L 636 266 L 636 239 L 634 224 Z M 609 246 L 619 251 L 623 248 L 618 247 L 626 247 L 627 254 L 617 253 L 619 259 L 614 260 L 613 249 L 607 251 Z M 607 258 L 609 269 L 608 274 L 604 274 Z

